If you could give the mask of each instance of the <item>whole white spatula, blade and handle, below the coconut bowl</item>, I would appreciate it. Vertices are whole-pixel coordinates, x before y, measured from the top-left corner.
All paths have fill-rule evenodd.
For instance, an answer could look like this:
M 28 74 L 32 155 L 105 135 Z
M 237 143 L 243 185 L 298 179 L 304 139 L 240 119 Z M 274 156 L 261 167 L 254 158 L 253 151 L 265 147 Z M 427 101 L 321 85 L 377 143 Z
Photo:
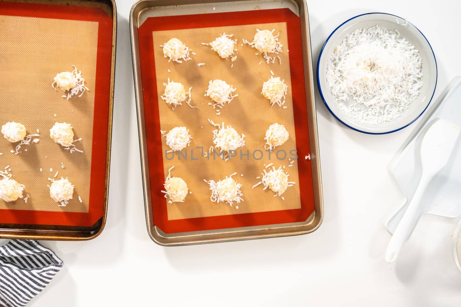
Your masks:
M 460 127 L 444 119 L 439 119 L 426 132 L 421 142 L 422 174 L 420 184 L 413 199 L 403 214 L 396 231 L 392 235 L 386 251 L 386 261 L 393 262 L 400 253 L 405 239 L 411 232 L 411 225 L 418 212 L 427 185 L 448 162 L 460 133 Z

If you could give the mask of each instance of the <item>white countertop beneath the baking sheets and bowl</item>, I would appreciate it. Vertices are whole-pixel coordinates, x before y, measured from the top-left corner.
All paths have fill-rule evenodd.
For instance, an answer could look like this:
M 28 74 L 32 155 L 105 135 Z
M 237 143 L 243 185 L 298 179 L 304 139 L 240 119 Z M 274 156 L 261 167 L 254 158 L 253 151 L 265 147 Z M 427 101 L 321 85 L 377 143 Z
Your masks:
M 461 1 L 308 0 L 314 64 L 344 20 L 365 12 L 407 18 L 437 57 L 437 99 L 461 74 Z M 411 2 L 411 3 L 408 3 Z M 46 242 L 65 262 L 30 304 L 73 306 L 453 306 L 461 272 L 451 253 L 456 219 L 426 215 L 394 264 L 384 261 L 383 223 L 403 201 L 387 172 L 415 125 L 384 136 L 343 127 L 317 93 L 325 219 L 297 237 L 161 247 L 144 219 L 129 13 L 117 0 L 118 37 L 109 209 L 89 242 Z M 315 87 L 317 87 L 315 85 Z

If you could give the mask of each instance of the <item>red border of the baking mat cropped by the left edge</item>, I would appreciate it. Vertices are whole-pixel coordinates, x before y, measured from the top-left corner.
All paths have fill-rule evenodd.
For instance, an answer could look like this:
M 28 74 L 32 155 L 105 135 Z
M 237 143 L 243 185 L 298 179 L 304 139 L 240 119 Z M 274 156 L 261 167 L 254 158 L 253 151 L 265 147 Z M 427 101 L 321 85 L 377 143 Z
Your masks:
M 105 203 L 112 17 L 101 8 L 96 7 L 1 1 L 0 15 L 98 22 L 89 212 L 0 209 L 0 223 L 4 224 L 92 226 L 102 217 Z M 78 33 L 77 30 L 76 33 Z

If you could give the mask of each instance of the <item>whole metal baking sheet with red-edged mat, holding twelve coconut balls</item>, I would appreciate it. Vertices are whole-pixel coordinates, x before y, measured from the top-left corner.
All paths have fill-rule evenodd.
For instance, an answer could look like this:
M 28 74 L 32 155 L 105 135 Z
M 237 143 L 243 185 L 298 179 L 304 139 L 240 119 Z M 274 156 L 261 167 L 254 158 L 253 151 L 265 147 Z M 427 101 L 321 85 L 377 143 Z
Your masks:
M 210 15 L 203 15 L 207 13 Z M 258 15 L 264 17 L 254 19 Z M 217 22 L 201 23 L 204 19 Z M 278 237 L 315 230 L 322 220 L 323 201 L 313 98 L 312 58 L 305 2 L 139 1 L 131 10 L 130 24 L 146 222 L 151 238 L 161 245 L 184 245 Z M 168 26 L 164 26 L 165 24 Z M 241 38 L 251 41 L 258 27 L 277 29 L 276 31 L 282 34 L 280 40 L 284 43 L 285 52 L 280 54 L 281 64 L 278 60 L 275 64 L 258 64 L 264 59 L 260 55 L 259 57 L 255 55 L 254 49 L 246 45 L 241 46 Z M 288 35 L 287 31 L 290 32 Z M 230 60 L 221 61 L 209 48 L 201 45 L 201 42 L 212 41 L 222 32 L 234 34 L 233 38 L 238 37 L 237 60 L 233 63 Z M 186 46 L 196 52 L 192 61 L 185 63 L 187 65 L 171 65 L 164 60 L 158 45 L 171 37 L 180 37 Z M 289 45 L 292 46 L 290 53 Z M 296 45 L 299 48 L 296 48 Z M 304 66 L 296 68 L 301 58 Z M 198 67 L 198 63 L 205 63 L 205 65 Z M 152 67 L 152 70 L 146 73 L 146 69 L 142 70 L 143 65 Z M 245 75 L 250 67 L 251 75 Z M 153 72 L 152 75 L 150 72 Z M 287 107 L 277 109 L 277 106 L 274 106 L 263 115 L 255 111 L 256 109 L 250 104 L 243 104 L 243 102 L 254 100 L 255 104 L 260 104 L 258 96 L 260 92 L 256 92 L 260 91 L 262 82 L 269 79 L 272 73 L 275 76 L 280 75 L 289 84 Z M 192 104 L 199 108 L 189 109 L 188 106 L 182 106 L 181 109 L 177 108 L 173 112 L 171 109 L 168 110 L 160 99 L 162 86 L 167 78 L 188 84 L 187 87 L 191 86 Z M 207 88 L 209 79 L 231 80 L 229 83 L 234 83 L 239 93 L 239 101 L 226 105 L 219 116 L 216 116 L 215 111 L 207 105 L 208 101 L 202 94 Z M 293 81 L 298 82 L 291 90 Z M 302 85 L 304 83 L 305 87 Z M 255 100 L 254 97 L 258 99 Z M 267 101 L 265 102 L 268 104 Z M 304 113 L 302 110 L 305 110 Z M 152 114 L 159 115 L 156 118 L 155 115 L 151 116 Z M 239 114 L 240 119 L 237 119 L 236 114 Z M 290 132 L 291 144 L 287 144 L 287 148 L 296 148 L 299 159 L 290 163 L 290 160 L 286 159 L 284 162 L 268 160 L 266 156 L 260 161 L 248 162 L 237 159 L 230 163 L 230 161 L 196 162 L 190 159 L 167 161 L 168 159 L 163 157 L 162 152 L 167 148 L 165 142 L 161 140 L 160 129 L 158 131 L 155 129 L 169 130 L 175 126 L 190 126 L 191 131 L 194 131 L 194 140 L 197 140 L 195 145 L 203 144 L 204 147 L 207 145 L 209 147 L 207 139 L 209 142 L 214 127 L 207 122 L 207 119 L 225 122 L 231 124 L 237 131 L 243 131 L 247 135 L 247 146 L 250 148 L 263 147 L 264 142 L 259 144 L 262 137 L 258 139 L 257 135 L 263 134 L 271 123 L 283 122 Z M 262 123 L 258 124 L 261 120 Z M 301 130 L 301 128 L 306 129 Z M 246 133 L 248 130 L 252 130 L 250 135 Z M 158 145 L 161 143 L 162 146 L 154 148 L 152 142 Z M 301 143 L 307 145 L 300 145 Z M 152 151 L 153 148 L 155 151 Z M 311 160 L 304 159 L 304 156 L 309 154 Z M 265 165 L 272 162 L 276 167 L 284 165 L 284 170 L 290 173 L 290 178 L 295 178 L 298 183 L 296 187 L 285 192 L 284 200 L 280 197 L 272 197 L 273 193 L 251 189 L 251 186 L 259 181 L 255 177 Z M 152 165 L 151 168 L 149 163 Z M 214 167 L 211 167 L 212 165 Z M 158 184 L 160 181 L 164 182 L 171 166 L 175 166 L 173 174 L 185 179 L 189 189 L 193 191 L 193 197 L 186 198 L 186 202 L 179 205 L 169 204 L 165 198 L 162 199 L 161 185 Z M 245 195 L 247 198 L 238 204 L 238 209 L 222 203 L 211 203 L 209 187 L 201 178 L 220 180 L 233 171 L 237 172 L 236 181 L 242 182 L 245 187 L 243 198 L 245 199 Z M 299 219 L 302 214 L 305 215 L 301 220 L 293 218 L 296 216 Z

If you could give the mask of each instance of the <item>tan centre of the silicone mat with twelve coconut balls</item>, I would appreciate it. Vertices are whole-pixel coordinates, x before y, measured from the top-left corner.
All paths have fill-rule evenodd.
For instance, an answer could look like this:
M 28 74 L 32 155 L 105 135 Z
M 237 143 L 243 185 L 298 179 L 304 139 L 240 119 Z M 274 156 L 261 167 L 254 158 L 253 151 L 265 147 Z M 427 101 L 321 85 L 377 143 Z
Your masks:
M 275 29 L 274 34 L 280 33 L 279 41 L 283 44 L 283 52 L 279 56 L 282 64 L 279 64 L 278 59 L 274 64 L 266 64 L 262 55 L 255 54 L 257 51 L 254 48 L 246 44 L 241 46 L 242 38 L 248 41 L 253 40 L 256 29 Z M 201 45 L 202 42 L 209 43 L 214 41 L 216 37 L 224 32 L 233 34 L 232 39 L 237 39 L 237 59 L 234 62 L 231 62 L 231 58 L 227 60 L 220 58 L 216 52 L 211 50 L 210 46 Z M 168 174 L 168 169 L 171 166 L 175 166 L 171 176 L 183 178 L 189 187 L 189 191 L 192 191 L 192 194 L 189 194 L 183 203 L 170 204 L 165 199 L 168 219 L 177 220 L 301 208 L 299 185 L 297 184 L 299 182 L 297 164 L 295 161 L 293 166 L 289 167 L 290 161 L 288 160 L 290 150 L 296 149 L 296 138 L 291 98 L 290 66 L 287 53 L 289 47 L 286 23 L 154 31 L 153 37 L 161 130 L 168 132 L 173 127 L 185 126 L 189 129 L 189 134 L 193 138 L 190 146 L 187 147 L 188 159 L 181 158 L 181 160 L 178 160 L 177 156 L 175 156 L 171 161 L 165 159 L 165 151 L 170 150 L 170 148 L 166 145 L 165 138 L 163 138 L 163 167 L 165 174 Z M 192 49 L 192 52 L 196 53 L 196 55 L 191 54 L 192 60 L 179 64 L 168 62 L 168 59 L 164 58 L 160 45 L 173 37 L 183 41 L 186 46 Z M 261 61 L 263 63 L 259 64 Z M 199 63 L 205 63 L 205 65 L 199 67 L 197 65 Z M 231 68 L 232 64 L 233 67 Z M 277 104 L 271 107 L 269 100 L 260 94 L 263 82 L 271 77 L 271 70 L 275 77 L 279 76 L 284 79 L 288 85 L 288 94 L 284 104 L 287 108 L 285 109 Z M 171 107 L 160 97 L 165 90 L 163 84 L 167 82 L 168 78 L 171 81 L 181 82 L 186 91 L 189 87 L 192 87 L 191 104 L 199 108 L 191 109 L 187 104 L 183 104 L 175 110 L 171 110 Z M 219 116 L 216 115 L 213 107 L 208 105 L 211 99 L 204 97 L 208 82 L 214 79 L 221 79 L 228 84 L 232 84 L 236 88 L 234 94 L 238 94 L 238 97 L 221 109 Z M 249 160 L 244 156 L 242 160 L 240 159 L 240 149 L 237 150 L 237 156 L 229 161 L 223 161 L 218 156 L 214 161 L 213 156 L 210 156 L 209 160 L 200 157 L 201 150 L 195 149 L 195 146 L 202 146 L 204 151 L 207 151 L 213 145 L 213 130 L 215 127 L 207 119 L 219 124 L 224 122 L 225 125 L 231 125 L 235 128 L 239 134 L 243 133 L 246 136 L 245 146 L 241 149 L 243 153 L 249 150 Z M 269 160 L 268 153 L 264 151 L 266 130 L 275 122 L 285 125 L 290 133 L 290 139 L 284 145 L 277 147 L 277 150 L 281 149 L 287 153 L 284 160 L 278 160 L 274 153 L 272 153 L 271 160 Z M 255 160 L 252 158 L 252 153 L 258 149 L 264 152 L 264 156 L 260 160 Z M 194 150 L 194 158 L 199 157 L 199 160 L 191 160 L 191 150 Z M 259 158 L 260 153 L 256 152 L 255 156 Z M 279 156 L 283 158 L 283 153 L 281 152 Z M 171 157 L 171 154 L 169 154 L 169 157 Z M 264 165 L 269 163 L 273 163 L 276 168 L 280 165 L 285 166 L 284 170 L 290 174 L 290 181 L 296 182 L 296 185 L 289 187 L 285 191 L 283 194 L 284 200 L 281 197 L 273 197 L 275 193 L 269 189 L 262 191 L 262 185 L 252 189 L 252 186 L 260 181 L 256 177 L 262 176 L 260 173 L 263 171 Z M 209 185 L 203 180 L 215 180 L 217 182 L 234 172 L 237 174 L 232 178 L 242 184 L 243 202 L 234 203 L 233 206 L 228 203 L 211 202 Z M 238 209 L 236 209 L 236 205 L 238 205 Z

